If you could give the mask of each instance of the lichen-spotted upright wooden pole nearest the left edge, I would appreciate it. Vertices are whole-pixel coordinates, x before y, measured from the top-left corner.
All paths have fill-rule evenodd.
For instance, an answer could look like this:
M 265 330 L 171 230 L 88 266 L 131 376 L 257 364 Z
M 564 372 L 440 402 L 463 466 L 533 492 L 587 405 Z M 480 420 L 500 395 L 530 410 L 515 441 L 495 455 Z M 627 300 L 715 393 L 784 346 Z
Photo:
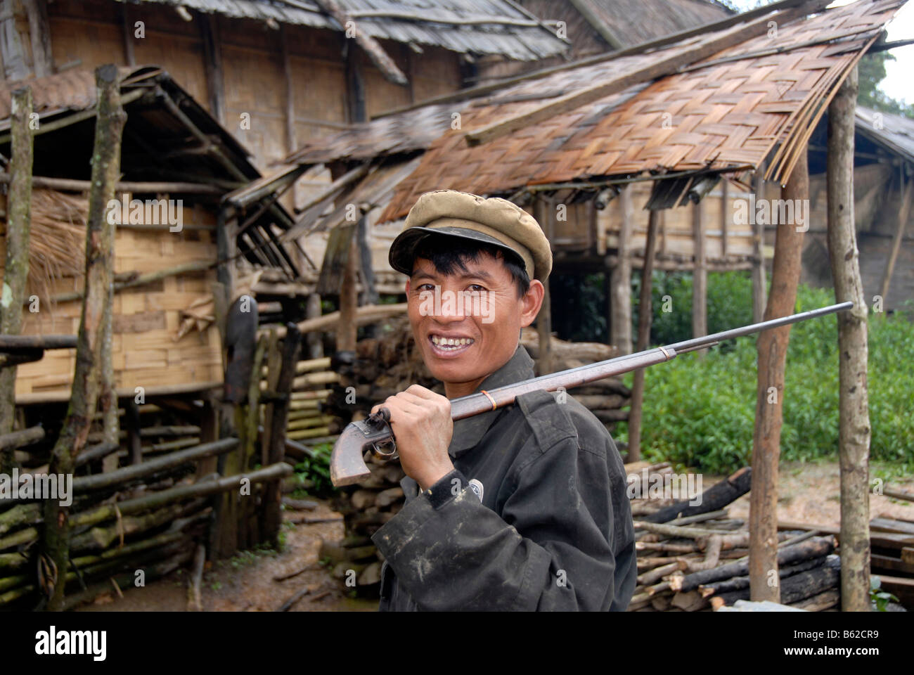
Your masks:
M 32 132 L 28 128 L 32 113 L 32 90 L 13 91 L 13 134 L 6 216 L 6 258 L 4 267 L 4 302 L 0 303 L 0 332 L 18 335 L 22 330 L 22 304 L 26 300 L 28 280 L 28 241 L 32 228 Z M 7 295 L 8 294 L 8 295 Z M 16 415 L 16 366 L 0 370 L 0 434 L 13 431 Z M 0 452 L 0 473 L 13 467 L 13 451 Z

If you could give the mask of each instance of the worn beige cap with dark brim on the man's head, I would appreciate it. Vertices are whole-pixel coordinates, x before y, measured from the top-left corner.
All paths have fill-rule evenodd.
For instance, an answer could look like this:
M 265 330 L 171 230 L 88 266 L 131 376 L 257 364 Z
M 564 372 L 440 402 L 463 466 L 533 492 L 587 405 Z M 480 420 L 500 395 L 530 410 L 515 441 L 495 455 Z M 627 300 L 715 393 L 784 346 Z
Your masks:
M 539 223 L 507 199 L 456 190 L 426 192 L 409 209 L 403 231 L 390 244 L 390 266 L 411 274 L 416 247 L 431 235 L 483 241 L 513 252 L 527 276 L 540 282 L 552 270 L 552 250 Z

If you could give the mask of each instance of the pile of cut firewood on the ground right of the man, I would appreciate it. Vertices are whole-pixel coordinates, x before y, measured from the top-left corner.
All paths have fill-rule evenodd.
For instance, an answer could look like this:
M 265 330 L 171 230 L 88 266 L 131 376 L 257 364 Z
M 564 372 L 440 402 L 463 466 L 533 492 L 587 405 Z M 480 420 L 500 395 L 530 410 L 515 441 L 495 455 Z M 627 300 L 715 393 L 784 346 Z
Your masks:
M 650 470 L 658 468 L 668 467 Z M 629 466 L 629 476 L 631 488 L 643 479 L 642 467 Z M 708 488 L 695 506 L 689 499 L 632 501 L 638 584 L 629 611 L 710 611 L 749 599 L 749 530 L 744 520 L 728 518 L 725 507 L 749 490 L 750 476 L 741 469 Z M 834 537 L 817 534 L 779 533 L 779 578 L 771 583 L 781 586 L 784 605 L 823 611 L 838 604 Z

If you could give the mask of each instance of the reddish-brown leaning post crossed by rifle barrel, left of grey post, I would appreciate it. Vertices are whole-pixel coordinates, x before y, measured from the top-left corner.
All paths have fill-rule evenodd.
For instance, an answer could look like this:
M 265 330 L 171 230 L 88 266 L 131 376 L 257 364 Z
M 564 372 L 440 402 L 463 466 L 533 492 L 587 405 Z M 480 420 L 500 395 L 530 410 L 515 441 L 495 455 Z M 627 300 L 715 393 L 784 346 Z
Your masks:
M 784 199 L 809 199 L 806 152 L 801 153 Z M 807 202 L 808 203 L 808 202 Z M 800 283 L 803 232 L 796 223 L 778 223 L 771 269 L 771 295 L 765 320 L 793 313 Z M 778 583 L 778 461 L 781 458 L 784 370 L 791 327 L 760 333 L 757 340 L 758 391 L 752 438 L 752 491 L 749 498 L 749 594 L 752 600 L 781 602 Z

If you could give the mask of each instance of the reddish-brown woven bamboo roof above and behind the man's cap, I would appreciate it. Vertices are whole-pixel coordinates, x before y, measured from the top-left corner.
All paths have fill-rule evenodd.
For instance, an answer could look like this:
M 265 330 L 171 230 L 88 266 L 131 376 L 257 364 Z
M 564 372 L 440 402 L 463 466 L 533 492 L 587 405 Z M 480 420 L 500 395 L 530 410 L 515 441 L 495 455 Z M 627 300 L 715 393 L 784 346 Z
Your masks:
M 730 28 L 500 90 L 492 102 L 462 107 L 461 128 L 443 130 L 381 220 L 401 217 L 423 192 L 441 187 L 505 194 L 643 172 L 733 171 L 760 166 L 772 151 L 768 176 L 783 182 L 846 74 L 903 3 L 858 0 L 799 18 L 774 13 L 773 39 L 750 38 L 675 74 L 468 145 L 468 131 L 675 58 Z

